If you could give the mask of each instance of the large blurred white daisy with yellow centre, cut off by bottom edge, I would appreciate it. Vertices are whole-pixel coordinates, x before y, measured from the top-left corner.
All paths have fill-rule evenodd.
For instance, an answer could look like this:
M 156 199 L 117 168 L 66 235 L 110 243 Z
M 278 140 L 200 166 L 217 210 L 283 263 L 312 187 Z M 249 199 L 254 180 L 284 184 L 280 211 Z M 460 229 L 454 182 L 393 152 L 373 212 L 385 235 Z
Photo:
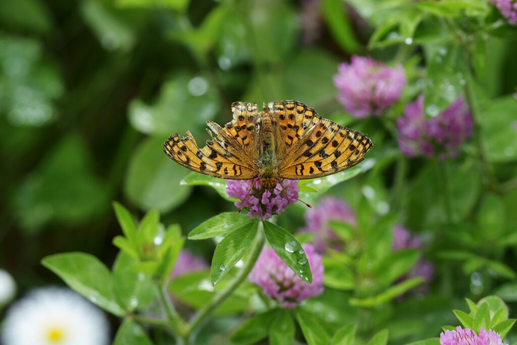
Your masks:
M 5 345 L 105 345 L 109 328 L 104 313 L 69 289 L 44 288 L 8 310 Z

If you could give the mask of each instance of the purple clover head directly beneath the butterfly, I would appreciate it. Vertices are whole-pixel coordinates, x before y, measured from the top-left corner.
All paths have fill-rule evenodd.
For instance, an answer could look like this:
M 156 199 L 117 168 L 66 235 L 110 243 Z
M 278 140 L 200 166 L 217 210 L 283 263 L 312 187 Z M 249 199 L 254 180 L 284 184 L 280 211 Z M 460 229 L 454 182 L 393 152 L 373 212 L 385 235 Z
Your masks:
M 227 179 L 226 192 L 230 197 L 240 199 L 235 206 L 248 208 L 249 217 L 268 219 L 281 214 L 284 209 L 298 200 L 298 180 L 278 179 L 272 191 L 261 187 L 260 179 Z

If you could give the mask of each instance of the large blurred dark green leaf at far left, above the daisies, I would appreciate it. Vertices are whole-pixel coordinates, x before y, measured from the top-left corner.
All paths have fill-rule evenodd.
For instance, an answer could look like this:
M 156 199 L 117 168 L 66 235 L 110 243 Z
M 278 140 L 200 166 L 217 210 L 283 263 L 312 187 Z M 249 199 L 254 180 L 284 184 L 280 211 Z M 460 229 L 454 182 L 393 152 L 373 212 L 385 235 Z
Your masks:
M 94 162 L 83 138 L 66 136 L 40 162 L 12 193 L 21 227 L 35 232 L 49 222 L 86 226 L 105 214 L 109 188 L 92 174 Z

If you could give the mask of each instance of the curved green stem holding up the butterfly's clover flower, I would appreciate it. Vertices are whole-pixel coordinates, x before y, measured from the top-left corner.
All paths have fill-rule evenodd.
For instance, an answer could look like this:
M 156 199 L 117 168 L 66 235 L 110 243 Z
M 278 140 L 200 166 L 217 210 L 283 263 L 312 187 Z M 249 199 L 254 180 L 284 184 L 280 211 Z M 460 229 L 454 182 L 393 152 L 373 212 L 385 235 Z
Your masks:
M 262 221 L 258 223 L 258 232 L 257 237 L 255 238 L 255 244 L 251 248 L 250 256 L 248 258 L 248 262 L 244 267 L 240 270 L 239 274 L 230 282 L 223 290 L 221 290 L 215 297 L 208 303 L 206 306 L 201 308 L 194 315 L 192 320 L 188 325 L 187 332 L 183 336 L 183 345 L 188 345 L 190 341 L 190 337 L 197 330 L 197 328 L 203 323 L 203 321 L 215 310 L 217 307 L 221 305 L 225 301 L 226 298 L 230 297 L 230 295 L 240 286 L 242 282 L 246 280 L 248 274 L 251 272 L 251 269 L 255 265 L 255 262 L 258 259 L 258 256 L 264 246 L 265 237 L 264 237 L 264 225 Z

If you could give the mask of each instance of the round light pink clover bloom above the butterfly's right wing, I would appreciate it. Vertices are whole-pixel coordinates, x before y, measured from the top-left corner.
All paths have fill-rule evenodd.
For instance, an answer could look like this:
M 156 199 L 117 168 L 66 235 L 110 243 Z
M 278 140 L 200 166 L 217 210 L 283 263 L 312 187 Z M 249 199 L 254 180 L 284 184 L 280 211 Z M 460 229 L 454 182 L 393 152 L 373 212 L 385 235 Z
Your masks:
M 380 116 L 392 106 L 406 85 L 401 65 L 388 67 L 369 57 L 352 56 L 351 64 L 338 66 L 334 85 L 338 100 L 355 117 Z

